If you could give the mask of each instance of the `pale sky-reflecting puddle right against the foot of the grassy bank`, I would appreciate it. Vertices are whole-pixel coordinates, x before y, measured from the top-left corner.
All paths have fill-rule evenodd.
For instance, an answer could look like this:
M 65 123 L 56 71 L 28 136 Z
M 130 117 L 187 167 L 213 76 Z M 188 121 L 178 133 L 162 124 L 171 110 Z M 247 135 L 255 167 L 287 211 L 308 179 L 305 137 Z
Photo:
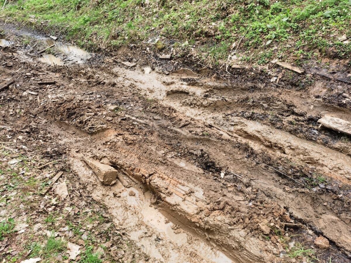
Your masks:
M 84 49 L 79 47 L 55 42 L 49 39 L 46 40 L 46 43 L 48 46 L 55 45 L 54 48 L 67 55 L 67 60 L 77 63 L 84 63 L 87 59 L 91 58 L 91 54 L 89 52 L 86 52 Z

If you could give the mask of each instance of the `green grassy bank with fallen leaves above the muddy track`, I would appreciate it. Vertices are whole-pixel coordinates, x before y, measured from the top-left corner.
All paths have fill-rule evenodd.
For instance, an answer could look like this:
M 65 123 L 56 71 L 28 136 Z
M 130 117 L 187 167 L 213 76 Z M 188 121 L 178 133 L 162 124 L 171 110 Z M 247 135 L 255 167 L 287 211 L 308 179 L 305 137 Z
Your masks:
M 275 58 L 302 63 L 330 49 L 349 58 L 350 8 L 350 0 L 18 0 L 0 15 L 34 28 L 44 23 L 91 49 L 161 38 L 158 52 L 173 46 L 181 56 L 195 48 L 197 59 L 219 64 L 238 49 L 238 60 L 264 65 Z

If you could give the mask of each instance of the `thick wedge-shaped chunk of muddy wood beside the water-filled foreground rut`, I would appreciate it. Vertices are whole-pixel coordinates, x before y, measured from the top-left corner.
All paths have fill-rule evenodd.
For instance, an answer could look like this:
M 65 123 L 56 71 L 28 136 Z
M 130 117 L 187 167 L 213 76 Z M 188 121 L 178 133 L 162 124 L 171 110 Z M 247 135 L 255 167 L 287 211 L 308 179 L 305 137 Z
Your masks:
M 90 166 L 94 173 L 98 176 L 100 182 L 106 185 L 113 184 L 118 175 L 118 171 L 108 164 L 100 163 L 89 157 L 82 157 L 82 159 Z

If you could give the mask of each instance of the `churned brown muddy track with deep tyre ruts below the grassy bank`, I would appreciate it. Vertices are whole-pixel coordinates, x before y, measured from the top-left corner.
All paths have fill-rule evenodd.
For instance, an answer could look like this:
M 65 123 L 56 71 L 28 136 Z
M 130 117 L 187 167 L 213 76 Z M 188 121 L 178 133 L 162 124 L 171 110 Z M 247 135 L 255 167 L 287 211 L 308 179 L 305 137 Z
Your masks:
M 351 140 L 317 124 L 351 120 L 348 61 L 216 73 L 127 49 L 38 54 L 54 42 L 2 29 L 1 82 L 14 81 L 0 93 L 3 150 L 35 151 L 34 168 L 65 161 L 54 186 L 101 205 L 134 248 L 112 244 L 104 261 L 350 262 Z M 83 157 L 120 180 L 103 185 Z

